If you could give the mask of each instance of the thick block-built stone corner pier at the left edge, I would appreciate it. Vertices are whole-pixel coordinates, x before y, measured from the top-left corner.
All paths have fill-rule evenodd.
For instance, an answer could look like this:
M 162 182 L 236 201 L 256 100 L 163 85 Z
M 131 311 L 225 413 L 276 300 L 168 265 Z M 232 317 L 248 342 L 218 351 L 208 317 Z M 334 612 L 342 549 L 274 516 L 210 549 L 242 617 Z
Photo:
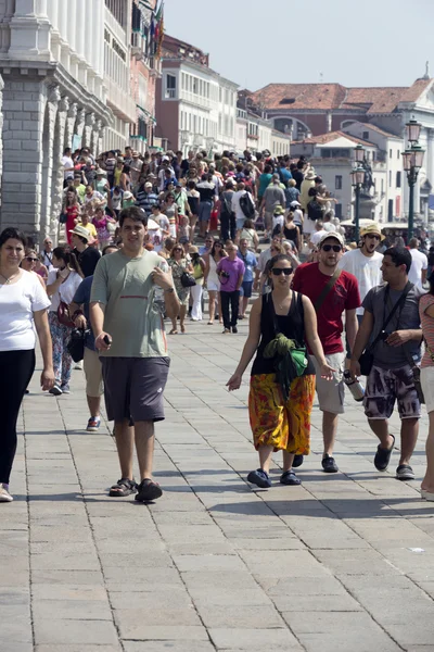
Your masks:
M 44 88 L 40 82 L 18 74 L 3 75 L 3 79 L 1 228 L 17 226 L 37 240 L 41 209 Z

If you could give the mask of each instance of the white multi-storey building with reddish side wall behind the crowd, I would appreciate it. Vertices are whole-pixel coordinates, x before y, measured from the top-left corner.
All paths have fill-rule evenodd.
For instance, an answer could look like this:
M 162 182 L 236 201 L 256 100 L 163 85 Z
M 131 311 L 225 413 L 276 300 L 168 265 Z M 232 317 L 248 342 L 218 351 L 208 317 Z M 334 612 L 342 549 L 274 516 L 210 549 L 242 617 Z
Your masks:
M 165 36 L 156 82 L 156 134 L 173 150 L 235 147 L 238 85 L 209 68 L 207 61 L 201 50 Z

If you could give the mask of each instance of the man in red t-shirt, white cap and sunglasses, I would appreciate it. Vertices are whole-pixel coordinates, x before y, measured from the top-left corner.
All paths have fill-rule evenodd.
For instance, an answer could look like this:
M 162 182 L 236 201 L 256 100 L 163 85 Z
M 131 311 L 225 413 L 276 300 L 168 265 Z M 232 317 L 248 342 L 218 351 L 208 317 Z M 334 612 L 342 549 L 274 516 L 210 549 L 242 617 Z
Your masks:
M 322 412 L 322 437 L 324 451 L 322 456 L 322 468 L 326 473 L 339 471 L 333 455 L 334 439 L 337 430 L 339 415 L 344 412 L 344 363 L 345 351 L 342 343 L 342 331 L 344 329 L 342 315 L 345 311 L 345 330 L 348 346 L 353 350 L 357 335 L 358 323 L 356 310 L 360 306 L 360 294 L 357 278 L 348 272 L 341 274 L 332 289 L 317 309 L 316 301 L 320 298 L 330 278 L 337 271 L 344 251 L 344 240 L 337 233 L 328 233 L 320 239 L 319 262 L 304 263 L 299 265 L 294 275 L 293 290 L 309 297 L 318 317 L 318 335 L 322 342 L 326 360 L 335 369 L 334 379 L 321 378 L 321 372 L 315 358 L 311 360 L 317 372 L 317 393 L 319 408 Z M 295 464 L 301 466 L 303 457 L 295 455 Z

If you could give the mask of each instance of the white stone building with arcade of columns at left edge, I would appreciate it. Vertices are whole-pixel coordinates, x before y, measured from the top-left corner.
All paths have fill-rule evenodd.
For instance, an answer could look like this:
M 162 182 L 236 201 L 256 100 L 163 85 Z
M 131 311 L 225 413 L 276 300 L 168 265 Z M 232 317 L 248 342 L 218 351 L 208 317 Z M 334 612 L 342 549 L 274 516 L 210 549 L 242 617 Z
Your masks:
M 104 0 L 2 0 L 3 172 L 0 227 L 56 236 L 65 147 L 101 149 Z M 86 16 L 86 21 L 84 21 Z M 81 28 L 80 28 L 81 26 Z

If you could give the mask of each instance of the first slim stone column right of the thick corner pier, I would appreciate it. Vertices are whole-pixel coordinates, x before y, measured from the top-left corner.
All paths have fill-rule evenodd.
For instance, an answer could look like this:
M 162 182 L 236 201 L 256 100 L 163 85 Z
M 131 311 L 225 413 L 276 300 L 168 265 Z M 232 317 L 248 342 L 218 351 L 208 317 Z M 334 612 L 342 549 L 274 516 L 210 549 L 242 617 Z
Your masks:
M 61 101 L 59 86 L 47 88 L 47 105 L 43 122 L 42 134 L 42 197 L 40 212 L 40 242 L 50 234 L 51 223 L 51 196 L 52 196 L 52 175 L 53 168 L 59 166 L 60 161 L 53 162 L 54 155 L 54 130 L 56 124 L 58 106 Z

